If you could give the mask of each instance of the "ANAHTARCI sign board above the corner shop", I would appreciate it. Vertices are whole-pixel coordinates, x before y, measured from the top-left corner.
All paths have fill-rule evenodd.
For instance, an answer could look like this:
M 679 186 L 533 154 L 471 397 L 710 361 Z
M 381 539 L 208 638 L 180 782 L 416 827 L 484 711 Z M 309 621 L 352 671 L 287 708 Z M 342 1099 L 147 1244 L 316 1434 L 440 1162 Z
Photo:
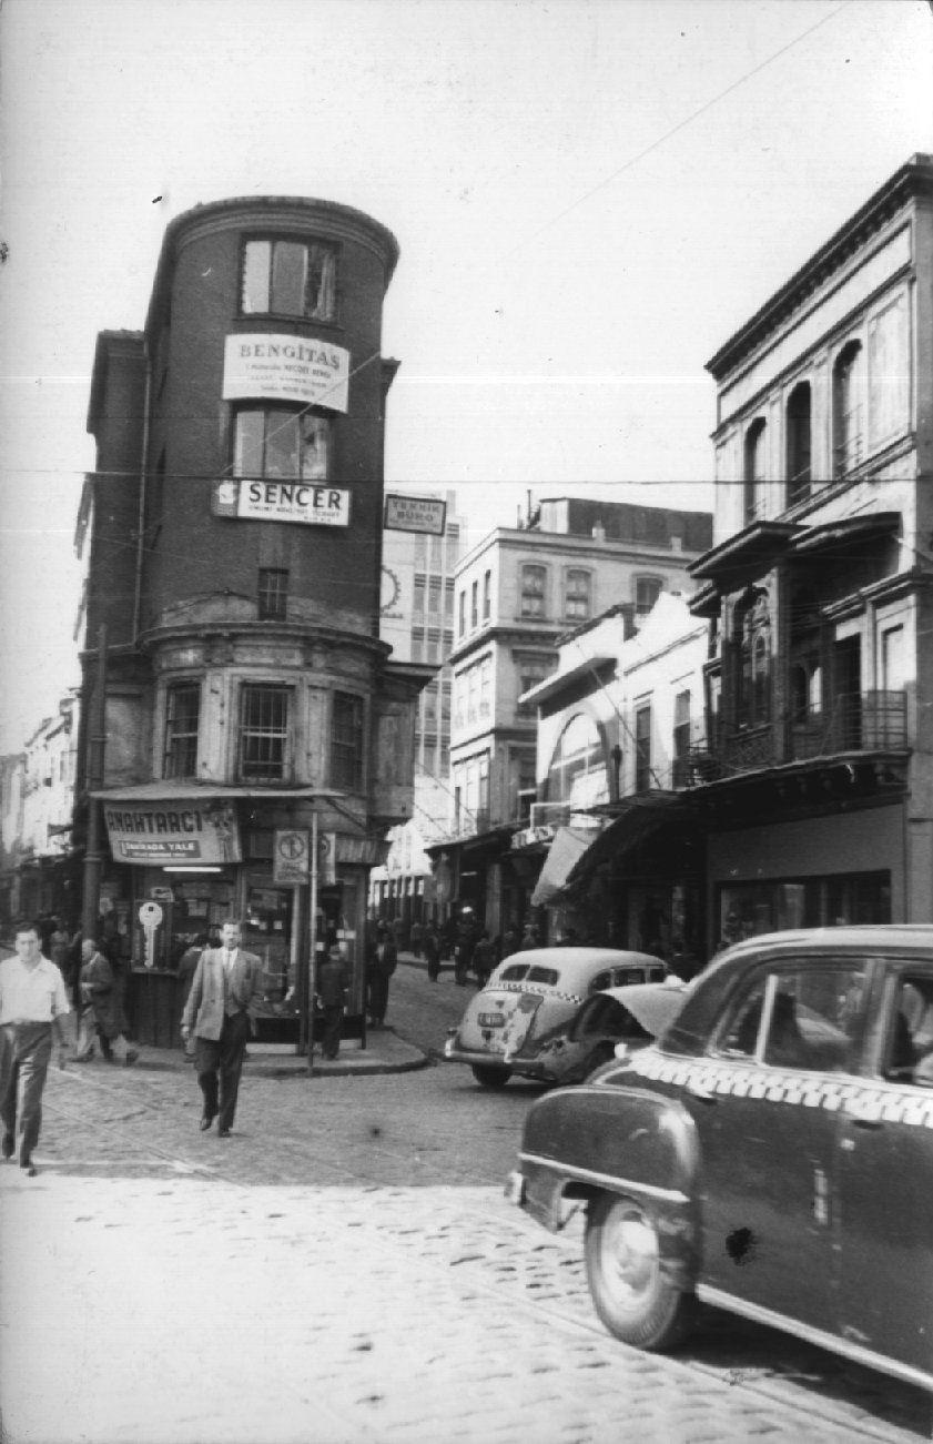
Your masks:
M 114 800 L 104 804 L 104 822 L 114 862 L 157 868 L 241 861 L 237 813 L 228 801 Z

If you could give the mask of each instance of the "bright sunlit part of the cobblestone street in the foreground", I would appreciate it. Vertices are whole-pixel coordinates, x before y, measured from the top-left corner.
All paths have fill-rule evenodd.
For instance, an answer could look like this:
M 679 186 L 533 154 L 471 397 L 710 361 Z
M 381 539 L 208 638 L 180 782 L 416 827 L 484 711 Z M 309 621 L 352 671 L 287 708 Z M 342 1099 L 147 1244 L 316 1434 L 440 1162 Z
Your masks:
M 492 1190 L 9 1170 L 0 1199 L 9 1444 L 898 1437 L 789 1414 L 503 1288 L 531 1226 Z

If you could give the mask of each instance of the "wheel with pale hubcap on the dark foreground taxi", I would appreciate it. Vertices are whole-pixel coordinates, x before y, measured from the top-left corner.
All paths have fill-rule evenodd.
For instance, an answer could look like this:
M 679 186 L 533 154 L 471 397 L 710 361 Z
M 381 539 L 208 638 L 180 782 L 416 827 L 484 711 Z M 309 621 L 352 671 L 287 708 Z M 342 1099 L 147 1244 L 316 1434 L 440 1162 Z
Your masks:
M 586 1219 L 586 1278 L 599 1318 L 638 1349 L 670 1349 L 689 1330 L 692 1294 L 664 1278 L 654 1214 L 634 1199 L 599 1194 Z

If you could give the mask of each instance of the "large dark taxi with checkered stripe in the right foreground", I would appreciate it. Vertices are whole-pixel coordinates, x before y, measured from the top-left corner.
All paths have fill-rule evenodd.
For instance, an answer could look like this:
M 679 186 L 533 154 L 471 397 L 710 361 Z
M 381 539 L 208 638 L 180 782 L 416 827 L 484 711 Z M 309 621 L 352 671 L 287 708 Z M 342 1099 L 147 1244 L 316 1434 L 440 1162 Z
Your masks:
M 526 1118 L 507 1196 L 586 1200 L 602 1323 L 711 1304 L 933 1389 L 933 926 L 748 939 L 650 1047 Z

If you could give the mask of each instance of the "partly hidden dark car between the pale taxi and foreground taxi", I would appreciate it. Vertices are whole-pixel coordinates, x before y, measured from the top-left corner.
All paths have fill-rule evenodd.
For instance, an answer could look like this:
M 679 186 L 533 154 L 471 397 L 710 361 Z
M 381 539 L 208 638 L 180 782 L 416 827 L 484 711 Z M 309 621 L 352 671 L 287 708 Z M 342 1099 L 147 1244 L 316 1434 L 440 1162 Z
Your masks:
M 689 985 L 673 973 L 663 983 L 604 988 L 579 1005 L 566 1028 L 543 1044 L 537 1061 L 547 1083 L 582 1083 L 617 1057 L 646 1048 L 677 1015 Z

